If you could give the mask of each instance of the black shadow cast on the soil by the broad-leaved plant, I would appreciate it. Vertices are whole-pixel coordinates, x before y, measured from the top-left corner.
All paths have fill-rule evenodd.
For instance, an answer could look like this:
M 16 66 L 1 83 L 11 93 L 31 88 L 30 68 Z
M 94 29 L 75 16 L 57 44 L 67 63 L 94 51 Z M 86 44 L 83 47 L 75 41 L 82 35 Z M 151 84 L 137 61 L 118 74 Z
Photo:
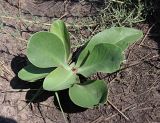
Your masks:
M 39 90 L 43 85 L 43 80 L 38 80 L 36 83 L 29 83 L 18 78 L 18 72 L 27 65 L 27 58 L 24 55 L 15 56 L 11 62 L 11 68 L 16 76 L 11 80 L 10 85 L 13 89 L 28 89 L 26 92 L 26 103 L 40 103 L 46 101 L 49 97 L 53 96 L 53 92 Z M 86 109 L 81 108 L 72 103 L 69 98 L 68 90 L 58 92 L 59 99 L 64 112 L 75 113 L 82 112 Z M 57 99 L 54 99 L 54 104 L 57 109 L 60 109 Z

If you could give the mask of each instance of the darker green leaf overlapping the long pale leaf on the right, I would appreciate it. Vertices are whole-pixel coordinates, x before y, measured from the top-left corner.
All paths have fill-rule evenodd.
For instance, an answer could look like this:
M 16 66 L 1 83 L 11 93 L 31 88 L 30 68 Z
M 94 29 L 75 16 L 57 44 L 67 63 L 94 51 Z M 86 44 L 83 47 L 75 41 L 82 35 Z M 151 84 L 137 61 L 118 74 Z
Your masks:
M 96 72 L 112 73 L 120 68 L 124 56 L 122 50 L 113 44 L 98 44 L 86 62 L 78 69 L 85 77 Z

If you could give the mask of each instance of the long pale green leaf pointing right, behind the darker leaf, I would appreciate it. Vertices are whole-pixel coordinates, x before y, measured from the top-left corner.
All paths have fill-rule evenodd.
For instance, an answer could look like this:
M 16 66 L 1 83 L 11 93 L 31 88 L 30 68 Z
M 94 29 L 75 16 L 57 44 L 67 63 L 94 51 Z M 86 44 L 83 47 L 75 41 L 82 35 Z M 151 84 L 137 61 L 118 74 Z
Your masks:
M 97 44 L 109 43 L 119 46 L 124 51 L 129 45 L 142 38 L 142 36 L 143 32 L 137 29 L 112 27 L 93 36 L 86 48 L 92 51 Z

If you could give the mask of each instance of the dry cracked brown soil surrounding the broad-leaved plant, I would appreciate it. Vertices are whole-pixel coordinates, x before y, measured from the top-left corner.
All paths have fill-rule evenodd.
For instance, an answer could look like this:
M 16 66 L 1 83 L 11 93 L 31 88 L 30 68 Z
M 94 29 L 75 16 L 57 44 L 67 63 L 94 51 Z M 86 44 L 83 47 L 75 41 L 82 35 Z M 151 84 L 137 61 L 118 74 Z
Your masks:
M 76 1 L 0 1 L 0 15 L 5 16 L 0 20 L 0 123 L 64 123 L 52 93 L 42 91 L 42 95 L 33 103 L 27 103 L 37 92 L 30 89 L 39 88 L 41 81 L 33 85 L 16 76 L 26 64 L 26 39 L 30 34 L 47 27 L 6 17 L 20 16 L 32 21 L 38 18 L 44 23 L 50 23 L 52 18 L 63 18 L 73 22 L 88 14 L 94 15 L 93 8 L 91 3 Z M 110 102 L 129 120 L 110 104 L 94 109 L 76 107 L 66 96 L 67 91 L 64 91 L 60 92 L 60 100 L 69 123 L 160 122 L 160 31 L 157 31 L 160 25 L 141 24 L 138 28 L 144 31 L 145 36 L 126 51 L 123 69 L 110 75 L 98 74 L 99 78 L 108 83 Z M 24 92 L 14 92 L 20 89 Z

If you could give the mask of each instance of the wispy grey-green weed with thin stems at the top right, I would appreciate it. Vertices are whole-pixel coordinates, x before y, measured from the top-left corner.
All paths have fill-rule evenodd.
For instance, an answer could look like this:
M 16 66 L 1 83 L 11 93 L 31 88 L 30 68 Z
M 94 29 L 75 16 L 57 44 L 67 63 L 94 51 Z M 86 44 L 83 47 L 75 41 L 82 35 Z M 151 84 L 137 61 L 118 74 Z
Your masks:
M 144 2 L 141 0 L 104 0 L 93 19 L 101 28 L 112 26 L 134 26 L 145 20 Z

